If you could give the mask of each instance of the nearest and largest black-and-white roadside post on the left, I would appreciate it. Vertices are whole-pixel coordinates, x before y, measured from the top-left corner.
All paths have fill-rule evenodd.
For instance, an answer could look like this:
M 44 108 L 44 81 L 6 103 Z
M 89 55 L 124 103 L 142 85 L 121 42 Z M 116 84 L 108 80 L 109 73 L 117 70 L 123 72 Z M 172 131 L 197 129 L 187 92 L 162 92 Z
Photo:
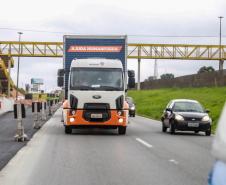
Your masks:
M 26 141 L 27 135 L 24 134 L 24 126 L 22 118 L 25 118 L 24 104 L 14 104 L 14 118 L 17 119 L 18 133 L 14 136 L 15 141 Z

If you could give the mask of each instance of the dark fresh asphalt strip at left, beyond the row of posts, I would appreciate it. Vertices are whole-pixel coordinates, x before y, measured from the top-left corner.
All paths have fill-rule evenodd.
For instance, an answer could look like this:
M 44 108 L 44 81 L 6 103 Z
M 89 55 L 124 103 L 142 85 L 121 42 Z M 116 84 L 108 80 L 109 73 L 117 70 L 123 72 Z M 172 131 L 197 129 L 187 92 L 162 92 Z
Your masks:
M 47 107 L 46 107 L 47 108 Z M 48 109 L 48 108 L 47 108 Z M 52 107 L 53 109 L 53 107 Z M 48 110 L 45 110 L 48 121 Z M 53 114 L 53 112 L 52 112 Z M 41 112 L 38 113 L 39 123 L 42 126 L 46 121 L 42 121 Z M 17 119 L 14 119 L 14 112 L 8 112 L 0 116 L 0 170 L 9 162 L 9 160 L 33 137 L 39 129 L 34 129 L 34 112 L 32 108 L 26 108 L 26 118 L 23 118 L 24 133 L 28 139 L 25 142 L 14 141 L 15 134 L 18 133 Z

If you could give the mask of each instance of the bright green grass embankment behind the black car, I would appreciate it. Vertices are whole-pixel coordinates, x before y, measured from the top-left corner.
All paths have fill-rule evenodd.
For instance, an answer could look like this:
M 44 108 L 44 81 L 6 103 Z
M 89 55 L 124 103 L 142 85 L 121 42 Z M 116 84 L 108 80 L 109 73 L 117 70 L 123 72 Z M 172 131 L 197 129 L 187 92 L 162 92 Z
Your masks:
M 214 133 L 226 100 L 226 87 L 133 90 L 128 91 L 128 96 L 136 102 L 136 114 L 159 121 L 170 100 L 197 100 L 204 109 L 210 109 L 209 116 L 213 120 L 212 132 Z

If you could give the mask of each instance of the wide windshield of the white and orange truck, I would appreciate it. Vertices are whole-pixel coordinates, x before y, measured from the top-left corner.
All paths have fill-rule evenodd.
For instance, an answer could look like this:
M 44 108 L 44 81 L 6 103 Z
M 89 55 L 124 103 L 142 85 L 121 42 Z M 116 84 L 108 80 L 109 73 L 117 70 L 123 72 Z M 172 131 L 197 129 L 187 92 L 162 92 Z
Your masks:
M 71 90 L 124 90 L 122 69 L 109 68 L 72 68 Z

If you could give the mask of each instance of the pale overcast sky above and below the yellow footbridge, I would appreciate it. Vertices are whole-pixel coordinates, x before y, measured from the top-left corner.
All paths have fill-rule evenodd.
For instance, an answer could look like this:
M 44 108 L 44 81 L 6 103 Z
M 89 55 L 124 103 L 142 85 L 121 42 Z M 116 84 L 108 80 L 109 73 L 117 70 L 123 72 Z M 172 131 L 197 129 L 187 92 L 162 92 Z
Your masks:
M 226 45 L 226 0 L 10 0 L 1 2 L 0 41 L 63 42 L 63 35 L 128 35 L 128 43 Z M 157 37 L 169 36 L 169 37 Z M 176 36 L 176 37 L 175 37 Z M 184 36 L 184 37 L 183 37 Z M 187 37 L 194 36 L 194 37 Z M 202 36 L 202 37 L 197 37 Z M 203 37 L 206 36 L 206 37 Z M 12 68 L 16 84 L 17 57 Z M 19 87 L 43 78 L 41 89 L 58 89 L 61 58 L 20 58 Z M 203 66 L 219 69 L 219 61 L 157 60 L 158 76 L 195 74 Z M 155 60 L 141 60 L 141 81 L 154 75 Z M 137 60 L 128 60 L 136 72 Z M 226 64 L 224 64 L 226 69 Z

